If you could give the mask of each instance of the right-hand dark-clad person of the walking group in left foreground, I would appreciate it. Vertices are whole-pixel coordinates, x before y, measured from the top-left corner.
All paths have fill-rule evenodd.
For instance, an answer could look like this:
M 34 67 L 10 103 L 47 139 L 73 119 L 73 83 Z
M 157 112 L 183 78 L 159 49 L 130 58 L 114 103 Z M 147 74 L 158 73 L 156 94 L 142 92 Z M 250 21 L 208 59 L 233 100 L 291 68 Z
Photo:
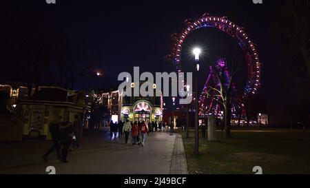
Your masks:
M 72 133 L 74 133 L 74 129 L 72 123 L 70 123 L 69 118 L 67 118 L 60 125 L 60 142 L 63 149 L 61 150 L 61 162 L 68 163 L 67 155 L 68 149 L 70 147 L 70 143 L 72 141 Z

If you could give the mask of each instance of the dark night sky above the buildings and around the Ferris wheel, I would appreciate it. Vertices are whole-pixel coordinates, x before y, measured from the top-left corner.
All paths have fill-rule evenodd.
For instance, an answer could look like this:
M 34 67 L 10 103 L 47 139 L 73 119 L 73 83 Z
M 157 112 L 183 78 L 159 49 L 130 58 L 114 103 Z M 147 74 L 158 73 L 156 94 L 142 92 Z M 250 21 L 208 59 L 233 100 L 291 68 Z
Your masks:
M 273 27 L 274 20 L 281 17 L 278 14 L 279 1 L 263 0 L 262 5 L 251 0 L 56 0 L 55 5 L 48 5 L 45 0 L 10 0 L 1 3 L 1 41 L 7 42 L 1 47 L 1 79 L 6 81 L 22 74 L 14 67 L 14 50 L 8 47 L 10 40 L 33 37 L 35 41 L 37 36 L 48 39 L 50 33 L 56 38 L 64 37 L 73 48 L 83 46 L 83 49 L 94 52 L 96 61 L 109 78 L 109 87 L 117 85 L 120 72 L 131 72 L 134 66 L 141 67 L 141 71 L 172 72 L 172 65 L 164 59 L 170 51 L 170 36 L 181 31 L 185 19 L 209 12 L 214 16 L 227 16 L 245 27 L 258 45 L 260 60 L 264 64 L 260 98 L 279 105 L 292 97 L 287 92 L 287 75 L 279 66 L 280 62 L 283 63 L 282 54 L 289 54 L 289 50 L 283 48 L 289 43 Z M 183 64 L 188 67 L 191 63 L 188 52 L 195 45 L 203 47 L 202 62 L 208 62 L 224 56 L 223 51 L 229 51 L 231 41 L 229 36 L 214 29 L 194 32 L 185 43 Z M 23 48 L 35 47 L 26 45 Z M 285 59 L 289 61 L 288 57 Z M 203 87 L 207 70 L 203 65 L 199 75 L 200 87 Z M 244 79 L 246 67 L 242 67 L 240 75 L 240 80 Z

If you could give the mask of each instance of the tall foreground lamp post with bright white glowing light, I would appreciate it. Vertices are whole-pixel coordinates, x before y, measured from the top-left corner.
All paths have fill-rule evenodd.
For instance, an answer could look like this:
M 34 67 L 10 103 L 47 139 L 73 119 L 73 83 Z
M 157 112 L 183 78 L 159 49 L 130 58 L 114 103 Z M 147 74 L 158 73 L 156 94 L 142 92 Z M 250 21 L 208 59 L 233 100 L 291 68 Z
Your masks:
M 199 56 L 201 53 L 201 50 L 199 48 L 194 49 L 194 55 L 195 55 L 195 63 L 196 63 L 196 76 L 195 76 L 195 154 L 199 154 L 199 119 L 198 119 L 198 113 L 199 113 L 199 105 L 198 105 L 198 72 L 200 69 L 199 65 Z

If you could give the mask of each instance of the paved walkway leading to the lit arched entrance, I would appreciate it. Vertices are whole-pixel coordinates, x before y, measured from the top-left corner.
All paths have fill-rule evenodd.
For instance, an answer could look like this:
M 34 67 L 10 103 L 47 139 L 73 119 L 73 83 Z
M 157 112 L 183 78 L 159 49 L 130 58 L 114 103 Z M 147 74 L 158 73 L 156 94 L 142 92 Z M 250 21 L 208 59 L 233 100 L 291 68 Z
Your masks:
M 41 160 L 52 143 L 46 141 L 0 143 L 0 174 L 187 174 L 182 138 L 155 133 L 145 147 L 124 145 L 123 138 L 92 133 L 81 140 L 81 149 L 70 152 L 70 163 L 59 163 L 56 154 L 49 163 Z M 130 138 L 131 139 L 131 138 Z

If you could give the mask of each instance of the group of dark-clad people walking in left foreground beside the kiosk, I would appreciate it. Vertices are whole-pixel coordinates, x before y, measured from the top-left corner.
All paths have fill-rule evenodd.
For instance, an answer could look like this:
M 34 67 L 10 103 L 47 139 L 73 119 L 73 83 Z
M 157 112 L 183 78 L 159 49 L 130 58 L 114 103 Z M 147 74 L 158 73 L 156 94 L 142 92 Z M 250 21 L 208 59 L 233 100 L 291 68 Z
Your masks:
M 67 156 L 70 147 L 72 149 L 79 148 L 79 138 L 82 135 L 83 127 L 78 115 L 74 116 L 74 123 L 69 121 L 69 118 L 59 116 L 50 123 L 50 134 L 52 136 L 53 145 L 48 149 L 42 158 L 48 162 L 48 156 L 56 150 L 57 159 L 62 163 L 68 163 Z

